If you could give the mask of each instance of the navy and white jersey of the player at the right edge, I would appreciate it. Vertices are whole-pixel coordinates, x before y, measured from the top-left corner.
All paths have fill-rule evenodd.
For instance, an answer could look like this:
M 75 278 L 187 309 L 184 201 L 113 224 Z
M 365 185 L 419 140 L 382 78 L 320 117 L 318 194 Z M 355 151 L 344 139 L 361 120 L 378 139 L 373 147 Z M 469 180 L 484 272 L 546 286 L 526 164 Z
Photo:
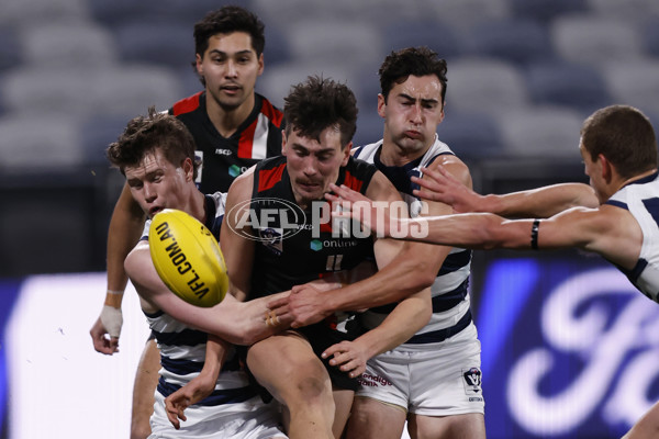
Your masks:
M 605 204 L 627 210 L 643 230 L 643 245 L 633 270 L 618 269 L 641 293 L 659 302 L 659 173 L 633 181 Z

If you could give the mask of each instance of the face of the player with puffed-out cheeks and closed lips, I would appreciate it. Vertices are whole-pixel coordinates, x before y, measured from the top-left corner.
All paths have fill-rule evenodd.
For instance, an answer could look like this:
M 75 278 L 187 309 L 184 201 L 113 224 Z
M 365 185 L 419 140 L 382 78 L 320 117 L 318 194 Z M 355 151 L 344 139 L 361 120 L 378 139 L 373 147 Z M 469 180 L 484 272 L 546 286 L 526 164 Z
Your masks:
M 442 82 L 435 75 L 409 76 L 394 85 L 387 102 L 378 95 L 378 113 L 384 117 L 384 142 L 421 155 L 433 145 L 444 120 Z

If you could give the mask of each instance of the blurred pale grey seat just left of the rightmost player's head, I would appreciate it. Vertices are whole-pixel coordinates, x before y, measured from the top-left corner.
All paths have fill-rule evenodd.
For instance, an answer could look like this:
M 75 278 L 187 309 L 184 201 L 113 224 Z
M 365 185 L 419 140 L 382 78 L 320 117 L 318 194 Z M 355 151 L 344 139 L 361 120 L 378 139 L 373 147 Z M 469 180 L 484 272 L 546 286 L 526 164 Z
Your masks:
M 552 106 L 502 110 L 496 114 L 503 150 L 515 157 L 579 157 L 583 119 L 576 111 Z

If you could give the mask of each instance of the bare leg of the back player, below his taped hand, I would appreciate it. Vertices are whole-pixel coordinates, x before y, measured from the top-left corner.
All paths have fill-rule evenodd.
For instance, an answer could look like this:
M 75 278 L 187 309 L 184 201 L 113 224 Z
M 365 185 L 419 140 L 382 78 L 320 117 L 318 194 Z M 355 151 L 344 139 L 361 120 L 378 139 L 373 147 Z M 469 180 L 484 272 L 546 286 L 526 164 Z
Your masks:
M 149 418 L 154 412 L 154 393 L 158 386 L 160 351 L 154 339 L 146 341 L 133 384 L 131 438 L 146 438 L 150 434 Z

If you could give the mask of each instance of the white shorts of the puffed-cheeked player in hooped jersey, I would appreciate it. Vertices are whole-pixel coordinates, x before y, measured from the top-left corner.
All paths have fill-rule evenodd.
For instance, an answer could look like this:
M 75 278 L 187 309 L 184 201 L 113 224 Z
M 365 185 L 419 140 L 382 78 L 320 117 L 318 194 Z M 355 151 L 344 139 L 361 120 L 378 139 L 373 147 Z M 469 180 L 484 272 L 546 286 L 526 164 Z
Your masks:
M 484 414 L 480 341 L 473 324 L 427 345 L 401 345 L 370 359 L 356 396 L 422 416 Z

